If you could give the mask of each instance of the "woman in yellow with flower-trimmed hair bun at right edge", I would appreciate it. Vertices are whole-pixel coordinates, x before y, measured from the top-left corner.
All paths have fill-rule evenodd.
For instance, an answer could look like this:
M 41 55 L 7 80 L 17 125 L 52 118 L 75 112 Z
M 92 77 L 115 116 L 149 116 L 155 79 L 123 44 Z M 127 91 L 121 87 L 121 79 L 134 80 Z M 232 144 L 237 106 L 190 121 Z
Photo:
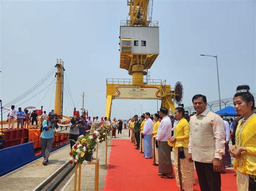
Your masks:
M 256 190 L 256 115 L 254 97 L 249 90 L 249 86 L 238 86 L 233 99 L 237 114 L 244 116 L 235 132 L 236 144 L 230 148 L 235 158 L 238 191 Z

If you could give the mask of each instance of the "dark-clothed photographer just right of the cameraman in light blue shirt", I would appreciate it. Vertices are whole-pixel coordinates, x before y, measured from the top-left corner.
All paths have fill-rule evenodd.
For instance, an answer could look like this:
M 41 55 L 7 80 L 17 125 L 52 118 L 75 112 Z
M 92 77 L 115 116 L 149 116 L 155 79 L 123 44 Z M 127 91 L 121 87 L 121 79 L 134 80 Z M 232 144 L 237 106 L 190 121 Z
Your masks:
M 70 148 L 72 150 L 72 146 L 75 145 L 78 136 L 79 136 L 79 128 L 82 127 L 81 123 L 82 120 L 79 118 L 76 118 L 76 116 L 74 116 L 71 121 L 71 126 L 70 126 L 70 130 L 69 130 L 69 140 L 70 140 Z M 74 140 L 75 142 L 73 142 L 72 140 Z

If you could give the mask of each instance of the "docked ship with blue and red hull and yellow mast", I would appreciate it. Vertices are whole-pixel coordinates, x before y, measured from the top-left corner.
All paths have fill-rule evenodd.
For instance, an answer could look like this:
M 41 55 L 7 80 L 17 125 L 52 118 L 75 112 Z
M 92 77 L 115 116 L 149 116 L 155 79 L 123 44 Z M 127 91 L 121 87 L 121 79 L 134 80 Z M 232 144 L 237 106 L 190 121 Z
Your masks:
M 51 152 L 69 144 L 69 121 L 71 117 L 63 115 L 63 94 L 64 94 L 64 62 L 57 59 L 55 65 L 56 72 L 56 91 L 54 112 L 59 118 L 59 128 L 56 130 Z M 0 176 L 8 174 L 15 169 L 20 168 L 38 158 L 42 157 L 41 150 L 41 124 L 29 125 L 28 129 L 8 130 L 8 122 L 3 121 L 3 110 L 1 101 L 1 131 L 0 131 Z M 43 106 L 40 109 L 35 107 L 26 107 L 36 111 L 38 118 L 43 114 Z M 88 116 L 88 111 L 83 108 L 82 115 Z M 80 116 L 76 108 L 73 110 L 73 116 Z M 15 121 L 17 123 L 17 121 Z

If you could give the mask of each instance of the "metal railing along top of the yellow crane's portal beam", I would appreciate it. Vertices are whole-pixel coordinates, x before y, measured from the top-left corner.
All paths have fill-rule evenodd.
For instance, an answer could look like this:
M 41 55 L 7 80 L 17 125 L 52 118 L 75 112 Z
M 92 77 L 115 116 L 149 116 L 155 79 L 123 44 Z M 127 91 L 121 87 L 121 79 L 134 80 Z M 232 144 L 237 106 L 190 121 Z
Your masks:
M 113 79 L 113 78 L 108 78 L 106 79 L 106 84 L 132 84 L 133 81 L 140 80 L 140 79 Z M 143 79 L 144 84 L 148 85 L 161 85 L 162 80 L 159 79 Z

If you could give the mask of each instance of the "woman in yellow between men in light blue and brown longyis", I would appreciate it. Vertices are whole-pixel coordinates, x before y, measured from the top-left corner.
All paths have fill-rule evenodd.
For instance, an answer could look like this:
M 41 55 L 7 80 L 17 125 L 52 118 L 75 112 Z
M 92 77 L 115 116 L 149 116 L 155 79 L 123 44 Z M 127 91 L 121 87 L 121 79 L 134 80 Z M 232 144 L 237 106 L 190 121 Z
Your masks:
M 154 120 L 154 130 L 152 132 L 152 148 L 153 148 L 153 165 L 154 166 L 158 166 L 158 143 L 156 141 L 156 137 L 157 137 L 157 130 L 158 127 L 160 125 L 159 122 L 159 114 L 154 114 L 153 115 L 153 120 Z

